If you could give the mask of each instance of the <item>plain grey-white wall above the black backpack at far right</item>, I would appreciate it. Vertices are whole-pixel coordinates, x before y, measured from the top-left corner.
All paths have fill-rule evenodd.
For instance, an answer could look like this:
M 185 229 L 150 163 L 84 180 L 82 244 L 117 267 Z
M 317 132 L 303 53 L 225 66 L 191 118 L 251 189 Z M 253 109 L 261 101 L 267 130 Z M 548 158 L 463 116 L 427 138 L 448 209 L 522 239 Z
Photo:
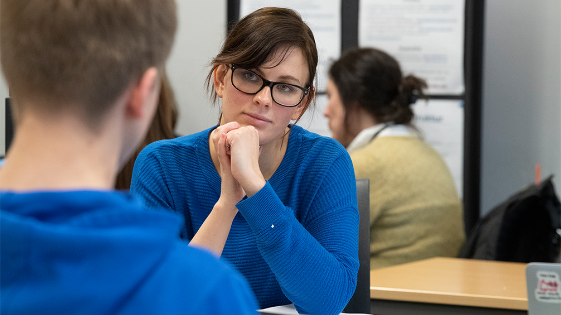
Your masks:
M 534 182 L 536 163 L 561 187 L 559 12 L 558 0 L 486 1 L 482 213 Z

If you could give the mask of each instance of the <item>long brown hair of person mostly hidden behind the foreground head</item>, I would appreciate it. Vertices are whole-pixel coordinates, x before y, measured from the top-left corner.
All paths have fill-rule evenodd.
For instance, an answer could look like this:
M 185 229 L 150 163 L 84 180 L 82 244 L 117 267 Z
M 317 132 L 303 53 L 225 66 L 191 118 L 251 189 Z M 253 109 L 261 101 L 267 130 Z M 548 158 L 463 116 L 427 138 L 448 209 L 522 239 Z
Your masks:
M 167 76 L 162 75 L 162 87 L 160 88 L 158 107 L 154 114 L 152 124 L 148 129 L 148 133 L 146 133 L 144 141 L 142 141 L 136 149 L 136 152 L 132 154 L 131 158 L 117 175 L 115 182 L 116 189 L 131 188 L 132 169 L 134 168 L 136 157 L 146 145 L 158 140 L 175 138 L 177 115 L 177 103 L 173 96 L 172 87 L 169 84 Z

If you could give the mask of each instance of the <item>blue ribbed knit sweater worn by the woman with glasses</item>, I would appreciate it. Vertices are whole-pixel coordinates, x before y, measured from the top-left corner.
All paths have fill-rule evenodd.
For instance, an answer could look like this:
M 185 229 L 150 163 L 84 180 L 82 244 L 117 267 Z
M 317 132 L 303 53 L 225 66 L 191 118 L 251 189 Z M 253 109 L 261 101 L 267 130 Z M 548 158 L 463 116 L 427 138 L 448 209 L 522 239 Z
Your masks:
M 185 217 L 192 239 L 220 197 L 209 153 L 211 129 L 162 140 L 136 159 L 131 191 Z M 267 184 L 236 207 L 222 257 L 261 308 L 294 303 L 305 314 L 337 314 L 356 287 L 358 209 L 353 166 L 337 141 L 293 126 Z

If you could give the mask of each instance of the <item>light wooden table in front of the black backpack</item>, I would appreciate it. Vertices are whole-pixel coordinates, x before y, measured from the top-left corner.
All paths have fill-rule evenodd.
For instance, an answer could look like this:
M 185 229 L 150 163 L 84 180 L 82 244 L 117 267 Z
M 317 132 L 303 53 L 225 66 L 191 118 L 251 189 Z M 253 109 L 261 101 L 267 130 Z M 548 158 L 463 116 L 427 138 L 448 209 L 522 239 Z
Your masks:
M 371 313 L 527 314 L 525 263 L 430 258 L 370 271 Z

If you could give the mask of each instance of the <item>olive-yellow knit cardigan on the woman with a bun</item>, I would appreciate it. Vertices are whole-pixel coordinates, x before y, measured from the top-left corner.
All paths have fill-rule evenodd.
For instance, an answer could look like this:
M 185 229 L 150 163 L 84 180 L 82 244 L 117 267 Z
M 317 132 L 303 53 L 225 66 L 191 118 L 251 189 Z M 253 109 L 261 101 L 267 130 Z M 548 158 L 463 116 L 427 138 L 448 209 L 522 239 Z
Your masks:
M 351 153 L 370 179 L 370 268 L 456 257 L 462 203 L 442 157 L 417 136 L 383 136 Z

